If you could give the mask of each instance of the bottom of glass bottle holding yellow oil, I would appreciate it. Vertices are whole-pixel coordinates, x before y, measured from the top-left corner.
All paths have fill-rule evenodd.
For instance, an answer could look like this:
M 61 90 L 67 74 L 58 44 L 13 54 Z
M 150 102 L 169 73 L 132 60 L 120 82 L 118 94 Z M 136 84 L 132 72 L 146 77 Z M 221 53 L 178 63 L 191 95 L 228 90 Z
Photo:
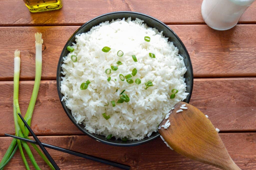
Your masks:
M 30 12 L 60 9 L 62 0 L 23 0 Z

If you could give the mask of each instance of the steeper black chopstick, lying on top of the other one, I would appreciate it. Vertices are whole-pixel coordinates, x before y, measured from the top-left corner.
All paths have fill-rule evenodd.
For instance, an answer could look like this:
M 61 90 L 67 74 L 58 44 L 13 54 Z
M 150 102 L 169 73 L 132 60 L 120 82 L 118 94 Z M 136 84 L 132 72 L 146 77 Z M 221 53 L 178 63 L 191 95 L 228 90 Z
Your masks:
M 45 156 L 48 158 L 48 160 L 51 162 L 52 166 L 56 169 L 56 170 L 60 170 L 60 168 L 58 167 L 58 165 L 56 164 L 56 162 L 52 159 L 51 155 L 47 152 L 47 150 L 45 149 L 45 147 L 42 145 L 42 143 L 40 142 L 40 140 L 36 137 L 35 133 L 33 132 L 33 130 L 28 126 L 28 123 L 23 119 L 23 117 L 21 116 L 20 113 L 18 113 L 20 119 L 23 121 L 23 123 L 25 124 L 26 128 L 28 129 L 28 131 L 31 133 L 31 135 L 33 136 L 33 138 L 36 140 L 37 144 L 40 146 L 41 150 L 44 152 Z

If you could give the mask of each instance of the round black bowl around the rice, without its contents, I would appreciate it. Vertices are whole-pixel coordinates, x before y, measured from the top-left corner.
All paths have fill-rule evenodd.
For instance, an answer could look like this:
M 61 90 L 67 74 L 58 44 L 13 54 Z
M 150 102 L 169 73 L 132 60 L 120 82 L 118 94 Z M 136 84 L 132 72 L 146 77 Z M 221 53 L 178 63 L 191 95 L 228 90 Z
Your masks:
M 163 35 L 165 37 L 168 37 L 168 41 L 172 41 L 173 44 L 175 45 L 175 47 L 177 47 L 179 49 L 179 54 L 183 56 L 184 62 L 185 62 L 186 68 L 187 68 L 187 72 L 185 73 L 184 77 L 186 79 L 185 82 L 186 82 L 186 85 L 187 85 L 186 90 L 189 93 L 189 95 L 184 100 L 184 102 L 186 102 L 186 103 L 189 102 L 190 97 L 191 97 L 191 93 L 192 93 L 192 88 L 193 88 L 193 69 L 192 69 L 192 64 L 191 64 L 190 58 L 189 58 L 189 54 L 188 54 L 187 49 L 185 48 L 184 44 L 182 43 L 182 41 L 173 32 L 172 29 L 170 29 L 167 25 L 165 25 L 163 22 L 159 21 L 158 19 L 153 18 L 153 17 L 148 16 L 148 15 L 145 15 L 145 14 L 141 14 L 141 13 L 137 13 L 137 12 L 128 12 L 128 11 L 112 12 L 112 13 L 103 14 L 101 16 L 93 18 L 92 20 L 83 24 L 69 38 L 68 42 L 66 43 L 66 45 L 64 46 L 64 48 L 63 48 L 63 50 L 60 54 L 58 67 L 57 67 L 57 89 L 58 89 L 58 94 L 59 94 L 60 100 L 63 97 L 63 94 L 60 93 L 61 76 L 63 76 L 61 74 L 61 71 L 62 71 L 61 65 L 63 64 L 63 57 L 67 56 L 67 54 L 69 53 L 69 51 L 66 50 L 67 46 L 72 46 L 72 43 L 73 42 L 75 43 L 75 36 L 79 33 L 90 31 L 90 29 L 93 26 L 99 25 L 101 22 L 111 21 L 112 19 L 118 19 L 118 18 L 127 19 L 128 17 L 132 17 L 132 20 L 134 20 L 135 18 L 142 19 L 142 20 L 144 20 L 144 23 L 146 23 L 149 27 L 156 28 L 159 31 L 163 31 Z M 80 129 L 83 133 L 87 134 L 89 137 L 91 137 L 91 138 L 93 138 L 97 141 L 100 141 L 100 142 L 103 142 L 103 143 L 106 143 L 106 144 L 110 144 L 110 145 L 132 146 L 132 145 L 138 145 L 138 144 L 146 143 L 148 141 L 151 141 L 151 140 L 156 139 L 157 137 L 159 137 L 158 132 L 153 132 L 150 137 L 145 137 L 142 140 L 134 140 L 134 141 L 129 141 L 128 140 L 127 142 L 123 142 L 120 139 L 116 140 L 114 138 L 112 138 L 110 140 L 106 140 L 105 136 L 98 135 L 98 134 L 92 134 L 92 133 L 88 132 L 86 129 L 84 129 L 84 126 L 82 124 L 77 124 L 75 119 L 73 118 L 73 116 L 71 114 L 71 110 L 69 110 L 66 107 L 65 102 L 61 101 L 61 104 L 62 104 L 66 114 L 68 115 L 70 120 L 77 126 L 77 128 Z

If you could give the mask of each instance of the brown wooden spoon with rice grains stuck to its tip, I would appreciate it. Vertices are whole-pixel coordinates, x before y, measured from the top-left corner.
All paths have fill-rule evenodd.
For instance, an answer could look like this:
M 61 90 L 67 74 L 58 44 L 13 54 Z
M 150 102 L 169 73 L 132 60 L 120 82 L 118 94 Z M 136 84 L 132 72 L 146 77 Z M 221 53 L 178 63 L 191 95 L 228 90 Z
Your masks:
M 180 110 L 186 104 L 187 109 Z M 215 127 L 196 107 L 179 102 L 170 111 L 168 119 L 164 119 L 159 128 L 170 122 L 167 129 L 161 127 L 160 135 L 176 152 L 202 163 L 225 170 L 241 170 L 231 159 Z

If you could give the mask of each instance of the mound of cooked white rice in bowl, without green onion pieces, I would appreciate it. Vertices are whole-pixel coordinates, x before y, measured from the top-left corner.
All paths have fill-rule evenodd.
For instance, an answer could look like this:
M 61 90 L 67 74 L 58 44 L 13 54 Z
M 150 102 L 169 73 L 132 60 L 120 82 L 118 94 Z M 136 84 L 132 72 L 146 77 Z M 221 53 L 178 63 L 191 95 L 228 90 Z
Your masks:
M 91 133 L 129 140 L 140 140 L 157 131 L 157 124 L 169 110 L 188 95 L 183 57 L 162 33 L 147 27 L 143 20 L 128 18 L 106 21 L 76 36 L 74 51 L 63 58 L 61 93 L 78 124 L 84 124 Z M 145 36 L 151 38 L 150 42 L 144 40 Z M 107 53 L 102 52 L 105 46 L 111 48 Z M 119 50 L 124 52 L 122 57 L 117 56 Z M 154 53 L 155 58 L 148 53 Z M 77 62 L 71 55 L 77 56 Z M 136 55 L 138 62 L 131 55 Z M 120 66 L 115 64 L 119 60 L 123 63 Z M 118 70 L 105 74 L 111 65 Z M 140 85 L 120 80 L 119 74 L 131 74 L 134 68 L 137 74 L 132 79 L 140 78 Z M 87 80 L 91 82 L 88 88 L 80 90 Z M 150 80 L 153 86 L 145 90 L 144 83 Z M 124 89 L 130 101 L 112 107 L 110 101 L 120 99 Z M 178 89 L 174 99 L 170 99 L 172 89 Z M 111 118 L 106 120 L 104 112 Z

